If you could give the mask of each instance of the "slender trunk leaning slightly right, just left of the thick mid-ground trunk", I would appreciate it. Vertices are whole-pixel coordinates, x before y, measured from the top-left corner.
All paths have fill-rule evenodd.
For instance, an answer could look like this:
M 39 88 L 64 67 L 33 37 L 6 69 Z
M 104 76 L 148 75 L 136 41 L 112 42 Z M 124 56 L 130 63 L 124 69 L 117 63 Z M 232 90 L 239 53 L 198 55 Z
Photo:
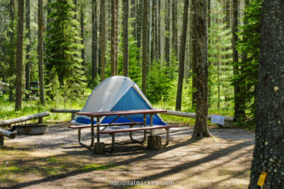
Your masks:
M 178 91 L 177 98 L 175 101 L 175 110 L 181 110 L 182 108 L 182 83 L 185 73 L 185 45 L 187 35 L 187 18 L 188 18 L 188 0 L 185 0 L 183 9 L 183 21 L 182 21 L 182 36 L 180 38 L 180 67 L 178 69 Z

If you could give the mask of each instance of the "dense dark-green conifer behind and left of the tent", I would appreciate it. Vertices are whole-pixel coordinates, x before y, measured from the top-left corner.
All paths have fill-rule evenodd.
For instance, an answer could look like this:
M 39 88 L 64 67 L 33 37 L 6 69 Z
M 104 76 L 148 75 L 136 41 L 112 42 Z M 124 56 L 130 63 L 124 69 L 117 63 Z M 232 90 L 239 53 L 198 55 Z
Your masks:
M 73 91 L 82 90 L 82 70 L 80 52 L 83 45 L 78 41 L 79 30 L 77 21 L 73 19 L 75 8 L 72 0 L 58 0 L 50 4 L 52 12 L 50 19 L 53 22 L 47 30 L 46 40 L 47 62 L 46 68 L 50 71 L 50 77 L 54 78 L 53 72 L 58 75 L 60 86 L 70 86 Z M 52 71 L 53 68 L 55 71 Z

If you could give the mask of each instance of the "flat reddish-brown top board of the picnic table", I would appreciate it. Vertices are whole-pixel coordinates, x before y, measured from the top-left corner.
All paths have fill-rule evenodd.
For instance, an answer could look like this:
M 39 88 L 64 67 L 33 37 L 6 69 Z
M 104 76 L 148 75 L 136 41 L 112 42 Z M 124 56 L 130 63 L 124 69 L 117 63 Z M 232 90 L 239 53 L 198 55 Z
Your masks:
M 157 114 L 157 113 L 165 113 L 167 110 L 152 110 L 152 109 L 144 109 L 144 110 L 120 110 L 120 111 L 106 111 L 106 112 L 89 112 L 89 113 L 76 113 L 77 115 L 87 115 L 89 117 L 102 117 L 108 115 L 131 115 L 131 114 Z

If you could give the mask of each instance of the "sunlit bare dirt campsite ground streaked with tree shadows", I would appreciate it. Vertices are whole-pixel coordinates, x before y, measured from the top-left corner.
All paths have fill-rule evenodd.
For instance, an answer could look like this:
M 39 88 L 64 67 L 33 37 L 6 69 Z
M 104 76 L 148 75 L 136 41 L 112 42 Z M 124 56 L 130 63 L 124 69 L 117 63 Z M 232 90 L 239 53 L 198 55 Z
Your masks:
M 214 138 L 190 142 L 193 127 L 180 126 L 170 131 L 169 146 L 157 151 L 148 150 L 146 144 L 131 144 L 128 134 L 119 134 L 113 154 L 97 155 L 80 147 L 77 130 L 68 129 L 68 125 L 58 122 L 50 124 L 44 135 L 5 139 L 5 147 L 0 149 L 0 188 L 247 188 L 249 185 L 254 134 L 248 130 L 209 127 Z M 88 132 L 89 129 L 82 130 L 85 143 L 89 142 Z M 158 133 L 165 137 L 164 131 L 155 131 Z M 102 142 L 110 141 L 109 136 L 102 138 Z M 138 182 L 142 185 L 134 185 Z

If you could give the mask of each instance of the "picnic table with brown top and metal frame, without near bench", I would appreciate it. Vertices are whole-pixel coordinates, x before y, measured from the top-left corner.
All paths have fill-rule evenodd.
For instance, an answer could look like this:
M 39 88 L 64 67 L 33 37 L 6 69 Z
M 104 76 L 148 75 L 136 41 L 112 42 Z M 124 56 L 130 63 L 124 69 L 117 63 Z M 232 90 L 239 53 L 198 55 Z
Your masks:
M 139 127 L 146 127 L 147 126 L 147 122 L 146 122 L 146 118 L 147 115 L 150 115 L 150 127 L 153 126 L 153 115 L 156 115 L 158 113 L 165 113 L 167 112 L 167 110 L 152 110 L 152 109 L 147 109 L 147 110 L 120 110 L 120 111 L 105 111 L 105 112 L 89 112 L 89 113 L 76 113 L 77 115 L 85 115 L 91 118 L 91 144 L 86 145 L 83 144 L 82 142 L 80 142 L 80 130 L 78 130 L 78 139 L 79 139 L 79 143 L 82 147 L 87 147 L 88 149 L 92 148 L 94 146 L 94 127 L 97 127 L 97 142 L 99 142 L 100 140 L 100 118 L 104 117 L 104 116 L 109 116 L 109 115 L 117 115 L 116 118 L 114 118 L 114 120 L 112 120 L 108 125 L 104 125 L 104 128 L 102 130 L 105 130 L 107 127 L 111 126 L 111 125 L 115 125 L 114 122 L 120 118 L 121 116 L 124 116 L 126 118 L 128 118 L 131 122 L 133 122 L 132 125 L 138 125 Z M 133 114 L 143 114 L 143 125 L 140 125 L 140 123 L 135 122 L 133 119 L 129 118 L 128 115 L 133 115 Z M 97 123 L 96 125 L 94 125 L 94 118 L 97 118 Z M 153 130 L 151 130 L 151 135 L 153 134 Z M 131 136 L 131 132 L 130 132 L 130 137 L 133 141 L 135 141 L 132 136 Z M 145 142 L 146 140 L 146 132 L 144 132 L 144 139 L 143 142 Z

